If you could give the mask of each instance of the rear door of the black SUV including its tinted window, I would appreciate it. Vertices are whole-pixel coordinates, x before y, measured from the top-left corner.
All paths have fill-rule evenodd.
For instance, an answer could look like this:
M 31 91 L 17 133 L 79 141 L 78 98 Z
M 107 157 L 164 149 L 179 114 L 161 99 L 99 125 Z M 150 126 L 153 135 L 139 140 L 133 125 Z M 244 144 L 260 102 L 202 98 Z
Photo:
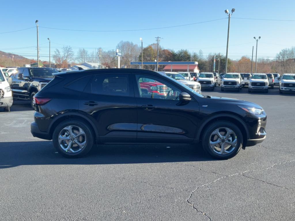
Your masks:
M 79 110 L 91 116 L 102 143 L 136 142 L 137 105 L 130 78 L 121 73 L 97 76 L 81 93 Z

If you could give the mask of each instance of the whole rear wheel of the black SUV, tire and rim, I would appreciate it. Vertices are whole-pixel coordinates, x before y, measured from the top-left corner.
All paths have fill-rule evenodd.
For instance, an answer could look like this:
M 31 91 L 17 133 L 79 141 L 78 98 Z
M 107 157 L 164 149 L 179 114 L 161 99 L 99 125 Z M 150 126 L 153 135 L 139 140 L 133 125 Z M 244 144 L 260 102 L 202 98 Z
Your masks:
M 63 156 L 77 158 L 87 154 L 93 146 L 93 134 L 88 124 L 79 120 L 61 122 L 54 130 L 52 141 Z

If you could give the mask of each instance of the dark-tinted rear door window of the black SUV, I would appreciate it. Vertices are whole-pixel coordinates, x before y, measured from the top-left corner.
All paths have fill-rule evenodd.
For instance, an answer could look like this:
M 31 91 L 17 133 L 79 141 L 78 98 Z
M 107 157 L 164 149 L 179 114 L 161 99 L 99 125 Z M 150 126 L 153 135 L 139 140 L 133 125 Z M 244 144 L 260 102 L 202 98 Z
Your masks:
M 90 93 L 114 96 L 133 96 L 127 74 L 96 75 L 90 83 Z

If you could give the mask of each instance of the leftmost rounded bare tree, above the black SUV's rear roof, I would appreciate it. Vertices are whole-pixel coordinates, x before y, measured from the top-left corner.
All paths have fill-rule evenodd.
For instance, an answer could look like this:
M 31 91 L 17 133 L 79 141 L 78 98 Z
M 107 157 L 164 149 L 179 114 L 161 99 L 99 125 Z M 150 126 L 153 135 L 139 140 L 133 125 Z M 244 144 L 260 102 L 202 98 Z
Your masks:
M 55 49 L 53 59 L 57 67 L 68 67 L 73 60 L 74 52 L 71 46 L 63 46 L 62 50 Z

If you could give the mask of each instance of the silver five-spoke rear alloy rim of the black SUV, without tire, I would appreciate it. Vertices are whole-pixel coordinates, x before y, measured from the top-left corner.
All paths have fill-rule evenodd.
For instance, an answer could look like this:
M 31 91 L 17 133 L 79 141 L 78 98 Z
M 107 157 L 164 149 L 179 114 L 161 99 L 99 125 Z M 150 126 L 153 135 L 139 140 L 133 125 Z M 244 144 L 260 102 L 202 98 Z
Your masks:
M 78 126 L 66 126 L 58 135 L 60 147 L 68 153 L 77 153 L 86 145 L 86 134 Z

